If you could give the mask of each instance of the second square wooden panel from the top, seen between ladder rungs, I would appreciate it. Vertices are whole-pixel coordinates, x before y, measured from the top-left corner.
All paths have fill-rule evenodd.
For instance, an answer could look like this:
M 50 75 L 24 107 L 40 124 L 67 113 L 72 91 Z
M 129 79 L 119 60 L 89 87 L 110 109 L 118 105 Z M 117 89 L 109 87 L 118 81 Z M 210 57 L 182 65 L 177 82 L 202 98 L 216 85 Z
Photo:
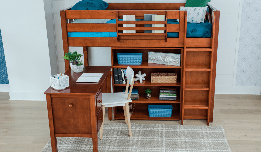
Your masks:
M 209 87 L 209 71 L 186 71 L 185 87 Z

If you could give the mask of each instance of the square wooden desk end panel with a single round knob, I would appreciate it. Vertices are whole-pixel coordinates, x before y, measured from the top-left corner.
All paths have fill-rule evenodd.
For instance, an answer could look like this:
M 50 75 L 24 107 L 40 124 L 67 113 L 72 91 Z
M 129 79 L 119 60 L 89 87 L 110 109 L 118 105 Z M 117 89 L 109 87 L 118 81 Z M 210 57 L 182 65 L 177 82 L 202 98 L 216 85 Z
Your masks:
M 56 134 L 92 134 L 90 98 L 51 97 Z

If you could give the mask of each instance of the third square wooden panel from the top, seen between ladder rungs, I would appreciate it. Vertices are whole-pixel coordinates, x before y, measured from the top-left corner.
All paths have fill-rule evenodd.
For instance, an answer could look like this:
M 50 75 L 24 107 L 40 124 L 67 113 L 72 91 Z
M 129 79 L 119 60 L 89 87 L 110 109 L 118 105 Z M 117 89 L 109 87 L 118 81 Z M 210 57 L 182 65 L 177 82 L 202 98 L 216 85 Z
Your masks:
M 208 95 L 207 90 L 185 90 L 184 104 L 207 105 Z

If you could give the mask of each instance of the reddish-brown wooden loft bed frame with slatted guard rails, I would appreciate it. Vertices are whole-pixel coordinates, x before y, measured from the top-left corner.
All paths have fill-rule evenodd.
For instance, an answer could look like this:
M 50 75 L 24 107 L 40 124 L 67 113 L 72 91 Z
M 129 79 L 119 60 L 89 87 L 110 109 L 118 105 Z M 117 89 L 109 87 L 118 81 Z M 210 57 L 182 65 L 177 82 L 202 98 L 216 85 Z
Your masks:
M 88 65 L 87 47 L 204 47 L 211 48 L 219 28 L 219 14 L 208 4 L 205 20 L 212 24 L 211 38 L 187 38 L 186 11 L 179 11 L 186 3 L 109 3 L 105 10 L 61 10 L 61 27 L 64 53 L 68 47 L 84 47 L 84 64 Z M 144 14 L 165 15 L 166 21 L 118 21 L 124 14 L 135 14 L 136 19 L 144 19 Z M 72 24 L 75 19 L 116 19 L 116 24 Z M 168 19 L 179 19 L 179 24 L 169 24 Z M 136 24 L 136 27 L 123 27 Z M 165 24 L 165 27 L 144 27 L 144 24 Z M 122 30 L 136 30 L 136 33 L 122 33 Z M 165 30 L 164 34 L 144 33 L 144 30 Z M 68 37 L 68 32 L 116 32 L 116 37 Z M 170 32 L 179 32 L 178 37 L 167 37 Z M 184 43 L 184 39 L 186 39 Z M 68 48 L 68 49 L 67 49 Z M 69 61 L 65 60 L 65 69 Z

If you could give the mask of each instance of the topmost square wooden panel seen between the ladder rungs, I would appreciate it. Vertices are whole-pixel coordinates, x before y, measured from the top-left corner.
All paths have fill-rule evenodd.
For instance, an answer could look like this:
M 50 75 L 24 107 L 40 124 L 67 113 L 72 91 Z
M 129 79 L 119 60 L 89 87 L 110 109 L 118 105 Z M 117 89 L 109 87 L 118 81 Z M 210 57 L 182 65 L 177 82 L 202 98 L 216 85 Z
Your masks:
M 210 51 L 186 51 L 186 68 L 210 68 Z

